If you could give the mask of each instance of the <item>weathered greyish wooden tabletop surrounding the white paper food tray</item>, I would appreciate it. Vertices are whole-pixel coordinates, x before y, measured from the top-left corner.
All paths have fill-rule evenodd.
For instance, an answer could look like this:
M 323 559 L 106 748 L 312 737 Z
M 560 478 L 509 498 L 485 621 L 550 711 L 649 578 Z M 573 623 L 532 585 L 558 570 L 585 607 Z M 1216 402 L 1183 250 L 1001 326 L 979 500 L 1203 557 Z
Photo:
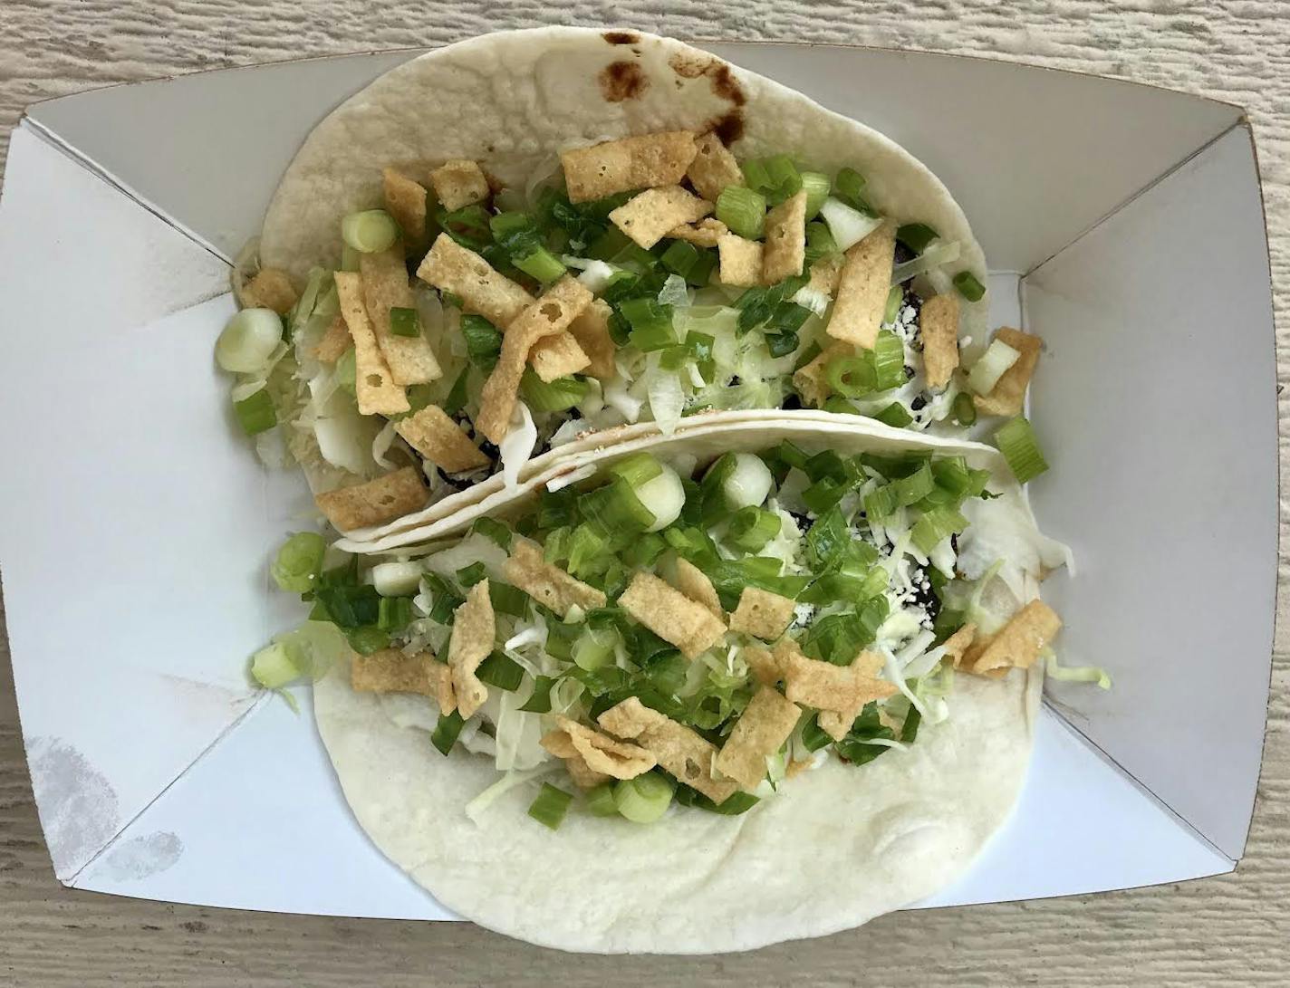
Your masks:
M 680 37 L 841 41 L 991 55 L 1121 76 L 1247 107 L 1262 157 L 1281 326 L 1278 393 L 1284 387 L 1290 374 L 1290 10 L 1284 3 L 653 0 L 577 9 L 578 23 L 627 23 Z M 203 68 L 436 44 L 552 17 L 550 4 L 531 0 L 0 0 L 0 155 L 21 108 L 37 99 Z M 1290 396 L 1278 400 L 1284 417 Z M 1282 468 L 1286 462 L 1282 454 Z M 1278 617 L 1290 577 L 1285 524 L 1282 511 Z M 264 916 L 62 889 L 31 801 L 0 611 L 0 983 L 1286 984 L 1290 627 L 1277 624 L 1259 802 L 1236 874 L 1096 896 L 900 913 L 818 940 L 686 960 L 570 957 L 468 924 Z

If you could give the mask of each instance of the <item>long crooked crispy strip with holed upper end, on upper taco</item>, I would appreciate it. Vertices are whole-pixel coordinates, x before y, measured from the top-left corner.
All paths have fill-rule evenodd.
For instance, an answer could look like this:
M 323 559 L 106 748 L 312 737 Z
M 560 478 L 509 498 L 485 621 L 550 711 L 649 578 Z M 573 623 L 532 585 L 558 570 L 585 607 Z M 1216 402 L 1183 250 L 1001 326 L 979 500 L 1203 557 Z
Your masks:
M 502 337 L 502 353 L 497 366 L 484 382 L 480 414 L 475 419 L 476 432 L 481 432 L 490 442 L 506 439 L 524 365 L 533 344 L 543 337 L 553 337 L 569 329 L 569 324 L 591 304 L 592 298 L 586 285 L 565 275 L 511 321 Z

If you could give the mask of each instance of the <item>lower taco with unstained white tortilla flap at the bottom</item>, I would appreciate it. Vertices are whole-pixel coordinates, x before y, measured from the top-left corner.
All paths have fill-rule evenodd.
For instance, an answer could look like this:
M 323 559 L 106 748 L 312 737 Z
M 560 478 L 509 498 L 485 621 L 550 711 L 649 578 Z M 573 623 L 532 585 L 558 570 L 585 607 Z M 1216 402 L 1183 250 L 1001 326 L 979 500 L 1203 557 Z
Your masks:
M 293 537 L 275 575 L 312 620 L 257 676 L 313 667 L 359 823 L 476 922 L 597 952 L 820 935 L 944 886 L 1010 813 L 1067 553 L 993 449 L 713 423 L 421 535 Z

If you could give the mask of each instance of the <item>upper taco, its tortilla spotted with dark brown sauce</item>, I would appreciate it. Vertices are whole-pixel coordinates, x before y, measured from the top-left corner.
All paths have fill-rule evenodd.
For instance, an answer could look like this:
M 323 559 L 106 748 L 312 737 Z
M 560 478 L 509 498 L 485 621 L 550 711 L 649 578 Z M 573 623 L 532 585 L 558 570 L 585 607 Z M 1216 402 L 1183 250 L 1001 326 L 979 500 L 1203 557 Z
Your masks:
M 317 125 L 236 266 L 219 352 L 244 428 L 285 439 L 316 494 L 342 491 L 320 498 L 332 524 L 368 538 L 513 489 L 579 436 L 1017 414 L 1031 350 L 1000 341 L 970 387 L 960 366 L 987 342 L 984 286 L 946 187 L 863 124 L 670 39 L 512 31 Z

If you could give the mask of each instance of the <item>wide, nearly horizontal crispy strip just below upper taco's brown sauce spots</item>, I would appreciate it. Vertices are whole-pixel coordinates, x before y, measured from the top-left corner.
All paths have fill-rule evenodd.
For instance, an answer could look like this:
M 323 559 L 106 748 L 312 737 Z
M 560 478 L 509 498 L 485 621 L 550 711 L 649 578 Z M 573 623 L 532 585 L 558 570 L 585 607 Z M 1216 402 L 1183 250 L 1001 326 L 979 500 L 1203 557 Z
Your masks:
M 560 152 L 570 203 L 590 203 L 633 188 L 675 186 L 698 148 L 689 130 L 666 130 Z

